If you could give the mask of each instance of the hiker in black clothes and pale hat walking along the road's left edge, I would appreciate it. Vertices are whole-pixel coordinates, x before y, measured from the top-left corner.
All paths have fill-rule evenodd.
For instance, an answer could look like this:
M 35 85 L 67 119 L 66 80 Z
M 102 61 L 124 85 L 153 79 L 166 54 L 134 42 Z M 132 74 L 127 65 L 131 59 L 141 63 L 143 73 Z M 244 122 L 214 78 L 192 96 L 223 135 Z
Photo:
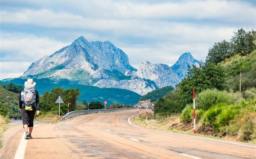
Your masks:
M 25 139 L 32 139 L 31 133 L 36 109 L 36 115 L 38 116 L 40 113 L 39 94 L 32 79 L 25 82 L 24 90 L 20 92 L 19 106 L 22 113 L 23 128 L 26 132 Z

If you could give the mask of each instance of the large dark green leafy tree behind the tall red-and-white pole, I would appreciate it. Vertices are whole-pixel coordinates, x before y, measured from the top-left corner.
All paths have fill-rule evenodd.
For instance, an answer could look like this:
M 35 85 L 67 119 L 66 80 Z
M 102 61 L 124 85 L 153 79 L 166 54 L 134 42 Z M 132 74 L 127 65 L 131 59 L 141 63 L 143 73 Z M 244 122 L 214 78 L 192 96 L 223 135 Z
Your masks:
M 186 78 L 184 78 L 180 84 L 179 95 L 184 105 L 192 102 L 193 88 L 197 93 L 205 89 L 216 88 L 218 90 L 224 90 L 226 87 L 226 80 L 224 75 L 224 69 L 220 65 L 213 63 L 206 63 L 202 68 L 193 67 L 189 69 Z

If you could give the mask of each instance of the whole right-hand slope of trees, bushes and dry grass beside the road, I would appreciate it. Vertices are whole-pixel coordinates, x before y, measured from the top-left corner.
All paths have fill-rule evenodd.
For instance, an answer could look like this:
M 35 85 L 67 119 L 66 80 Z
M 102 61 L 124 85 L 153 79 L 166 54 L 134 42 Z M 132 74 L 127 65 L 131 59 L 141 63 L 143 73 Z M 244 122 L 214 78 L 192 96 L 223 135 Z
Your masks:
M 255 40 L 255 31 L 241 28 L 230 42 L 215 43 L 205 65 L 190 68 L 174 91 L 157 100 L 148 125 L 192 133 L 195 88 L 197 134 L 256 143 Z

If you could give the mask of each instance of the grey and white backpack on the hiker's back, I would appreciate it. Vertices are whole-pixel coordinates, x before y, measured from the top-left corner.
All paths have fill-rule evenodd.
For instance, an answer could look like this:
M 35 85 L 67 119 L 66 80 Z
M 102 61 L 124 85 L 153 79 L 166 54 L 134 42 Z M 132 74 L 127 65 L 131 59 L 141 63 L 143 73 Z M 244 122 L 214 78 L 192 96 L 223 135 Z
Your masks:
M 35 103 L 35 86 L 32 83 L 27 83 L 24 90 L 20 93 L 21 101 L 25 105 L 27 111 L 32 111 L 32 106 Z

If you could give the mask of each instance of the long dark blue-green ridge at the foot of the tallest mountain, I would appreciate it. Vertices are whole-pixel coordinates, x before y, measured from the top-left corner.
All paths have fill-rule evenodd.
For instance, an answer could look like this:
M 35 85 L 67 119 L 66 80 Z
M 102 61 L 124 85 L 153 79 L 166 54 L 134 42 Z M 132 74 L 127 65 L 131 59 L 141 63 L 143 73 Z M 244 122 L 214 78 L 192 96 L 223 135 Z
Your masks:
M 9 82 L 14 83 L 15 85 L 24 85 L 26 79 L 15 78 L 10 80 L 4 80 L 2 84 L 8 84 Z M 81 96 L 79 97 L 79 102 L 82 100 L 86 101 L 99 101 L 103 102 L 104 100 L 108 100 L 109 104 L 120 103 L 124 105 L 133 105 L 138 102 L 140 99 L 140 95 L 125 89 L 118 88 L 98 88 L 90 85 L 77 85 L 71 82 L 70 80 L 62 79 L 59 80 L 58 83 L 49 79 L 49 78 L 34 78 L 36 84 L 36 89 L 39 94 L 44 94 L 45 91 L 50 91 L 52 88 L 61 87 L 64 89 L 68 88 L 79 88 L 79 92 Z

